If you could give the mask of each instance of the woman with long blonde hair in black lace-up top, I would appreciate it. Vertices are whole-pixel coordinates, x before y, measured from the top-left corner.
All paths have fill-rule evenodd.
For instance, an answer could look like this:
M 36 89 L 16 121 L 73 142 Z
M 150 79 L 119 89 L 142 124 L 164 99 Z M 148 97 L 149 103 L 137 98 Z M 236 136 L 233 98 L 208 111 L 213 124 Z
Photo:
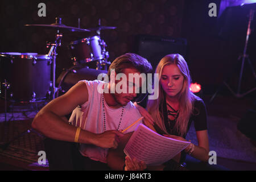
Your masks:
M 184 58 L 179 54 L 164 56 L 156 67 L 159 74 L 159 97 L 148 100 L 147 111 L 137 104 L 141 114 L 149 121 L 155 121 L 154 129 L 165 137 L 187 141 L 185 139 L 191 122 L 194 122 L 198 145 L 191 143 L 181 154 L 158 167 L 147 167 L 153 170 L 177 169 L 184 162 L 185 154 L 203 162 L 209 159 L 209 142 L 207 133 L 207 113 L 203 100 L 190 90 L 191 76 Z M 149 122 L 147 122 L 149 123 Z M 145 169 L 144 162 L 131 160 L 126 156 L 126 170 Z

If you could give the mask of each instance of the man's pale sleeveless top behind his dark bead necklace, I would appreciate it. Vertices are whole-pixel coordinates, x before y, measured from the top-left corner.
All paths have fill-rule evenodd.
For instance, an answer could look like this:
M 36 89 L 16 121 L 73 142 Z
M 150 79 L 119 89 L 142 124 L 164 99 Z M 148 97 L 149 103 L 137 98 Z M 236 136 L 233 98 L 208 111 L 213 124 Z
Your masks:
M 87 86 L 88 89 L 88 101 L 77 106 L 73 110 L 69 122 L 72 125 L 81 127 L 81 129 L 90 131 L 92 133 L 100 134 L 104 132 L 104 117 L 103 117 L 103 106 L 102 106 L 102 94 L 98 92 L 97 87 L 101 83 L 100 80 L 87 81 L 82 80 Z M 106 130 L 117 130 L 119 121 L 122 114 L 122 107 L 118 109 L 113 109 L 106 104 L 105 106 L 105 126 Z M 126 127 L 130 126 L 133 122 L 137 121 L 141 117 L 141 114 L 133 105 L 132 102 L 129 102 L 123 110 L 122 121 L 120 123 L 118 130 L 124 130 Z M 124 133 L 130 133 L 134 131 L 139 123 L 130 127 Z M 100 162 L 106 163 L 106 156 L 108 154 L 108 149 L 93 146 L 91 144 L 80 144 L 80 153 L 83 156 L 87 156 L 90 159 L 98 160 Z

